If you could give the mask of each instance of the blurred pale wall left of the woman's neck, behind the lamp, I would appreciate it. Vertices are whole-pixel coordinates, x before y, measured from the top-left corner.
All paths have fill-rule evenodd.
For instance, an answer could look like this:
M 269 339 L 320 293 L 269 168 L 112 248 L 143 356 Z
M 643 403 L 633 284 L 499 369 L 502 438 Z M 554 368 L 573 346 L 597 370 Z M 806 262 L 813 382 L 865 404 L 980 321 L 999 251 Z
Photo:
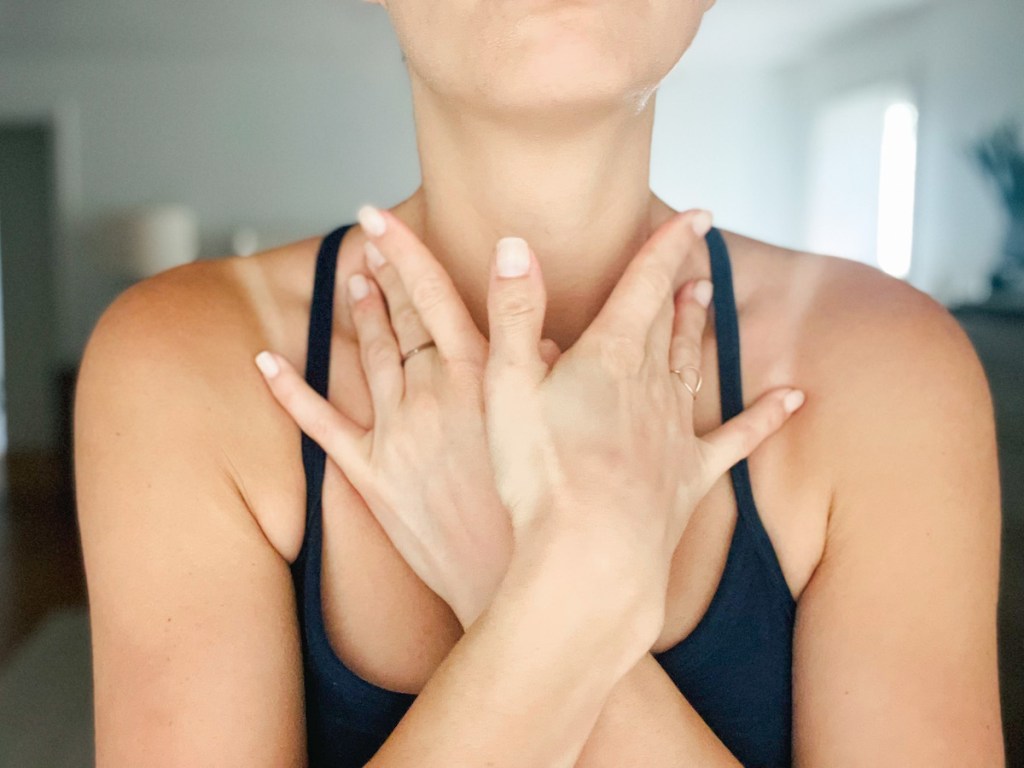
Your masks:
M 0 32 L 0 121 L 55 110 L 63 126 L 68 361 L 124 288 L 96 258 L 99 225 L 123 207 L 193 206 L 202 255 L 216 257 L 236 227 L 308 237 L 419 181 L 407 76 L 379 9 L 353 2 L 340 13 L 324 0 L 319 24 L 306 7 L 301 27 L 288 4 L 254 4 L 267 13 L 211 31 L 196 23 L 202 8 L 145 5 L 126 16 L 123 3 L 97 0 L 82 27 L 26 24 L 36 44 Z

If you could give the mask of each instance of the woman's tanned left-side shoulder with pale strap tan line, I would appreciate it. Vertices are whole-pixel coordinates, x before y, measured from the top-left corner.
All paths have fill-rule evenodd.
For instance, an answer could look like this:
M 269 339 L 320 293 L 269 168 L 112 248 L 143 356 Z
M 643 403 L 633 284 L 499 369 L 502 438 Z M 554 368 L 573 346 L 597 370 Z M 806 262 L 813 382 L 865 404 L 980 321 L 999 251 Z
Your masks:
M 270 348 L 304 366 L 311 252 L 314 242 L 302 241 L 193 262 L 134 284 L 96 323 L 76 394 L 98 408 L 137 394 L 131 400 L 152 423 L 191 423 L 289 559 L 302 536 L 302 511 L 292 509 L 302 496 L 300 432 L 253 358 Z

